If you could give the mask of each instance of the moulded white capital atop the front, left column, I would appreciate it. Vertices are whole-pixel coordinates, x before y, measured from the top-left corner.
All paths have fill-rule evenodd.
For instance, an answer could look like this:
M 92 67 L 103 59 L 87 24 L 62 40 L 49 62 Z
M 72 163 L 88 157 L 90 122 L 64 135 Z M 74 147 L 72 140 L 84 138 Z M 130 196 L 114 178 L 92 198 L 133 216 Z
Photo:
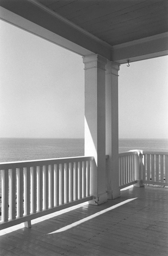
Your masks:
M 84 69 L 100 68 L 106 70 L 107 59 L 99 54 L 91 54 L 83 56 L 83 63 L 85 64 Z

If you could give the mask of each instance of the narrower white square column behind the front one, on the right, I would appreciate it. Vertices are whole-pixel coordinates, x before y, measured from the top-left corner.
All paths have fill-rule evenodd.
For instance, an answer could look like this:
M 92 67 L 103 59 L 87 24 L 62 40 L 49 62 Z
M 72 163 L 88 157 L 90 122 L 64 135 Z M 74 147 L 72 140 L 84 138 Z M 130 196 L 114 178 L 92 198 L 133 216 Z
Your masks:
M 120 196 L 118 152 L 118 71 L 120 65 L 106 65 L 106 190 L 108 199 Z

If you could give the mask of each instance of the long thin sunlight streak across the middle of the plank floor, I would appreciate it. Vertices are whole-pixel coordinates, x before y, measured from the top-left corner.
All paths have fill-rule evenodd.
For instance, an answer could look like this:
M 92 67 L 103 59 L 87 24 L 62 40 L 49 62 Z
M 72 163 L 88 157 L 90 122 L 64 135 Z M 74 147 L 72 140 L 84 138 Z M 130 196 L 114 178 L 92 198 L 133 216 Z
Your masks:
M 86 217 L 86 218 L 84 218 L 84 219 L 82 219 L 82 220 L 80 220 L 80 221 L 76 221 L 76 222 L 74 222 L 74 223 L 72 223 L 72 224 L 70 224 L 70 225 L 67 225 L 66 227 L 60 228 L 60 229 L 55 230 L 55 231 L 53 231 L 53 232 L 51 232 L 51 233 L 48 233 L 48 234 L 59 233 L 59 232 L 63 232 L 63 231 L 66 231 L 66 230 L 68 230 L 68 229 L 71 229 L 71 228 L 73 228 L 73 227 L 76 227 L 76 226 L 80 225 L 81 223 L 84 223 L 84 222 L 86 222 L 86 221 L 89 221 L 89 220 L 91 220 L 91 219 L 93 219 L 93 218 L 95 218 L 95 217 L 97 217 L 97 216 L 99 216 L 99 215 L 101 215 L 101 214 L 104 214 L 104 213 L 106 213 L 106 212 L 108 212 L 108 211 L 111 211 L 111 210 L 113 210 L 113 209 L 115 209 L 115 208 L 117 208 L 117 207 L 119 207 L 119 206 L 121 206 L 121 205 L 124 205 L 124 204 L 126 204 L 126 203 L 129 203 L 129 202 L 131 202 L 131 201 L 133 201 L 133 200 L 135 200 L 135 199 L 137 199 L 137 197 L 136 197 L 136 198 L 127 199 L 127 200 L 125 200 L 125 201 L 123 201 L 123 202 L 121 202 L 121 203 L 119 203 L 119 204 L 113 205 L 113 206 L 111 206 L 111 207 L 109 207 L 109 208 L 107 208 L 107 209 L 104 209 L 104 210 L 102 210 L 102 211 L 96 212 L 96 213 L 94 213 L 94 214 L 92 214 L 92 215 L 90 215 L 90 216 L 88 216 L 88 217 Z

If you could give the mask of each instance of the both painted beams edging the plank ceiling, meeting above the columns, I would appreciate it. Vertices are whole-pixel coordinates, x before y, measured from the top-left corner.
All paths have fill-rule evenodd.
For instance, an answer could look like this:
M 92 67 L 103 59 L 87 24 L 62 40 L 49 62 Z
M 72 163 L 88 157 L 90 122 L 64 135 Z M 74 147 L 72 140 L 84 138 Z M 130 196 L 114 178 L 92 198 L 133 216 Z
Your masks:
M 0 19 L 81 56 L 96 53 L 122 64 L 128 59 L 131 62 L 168 55 L 168 32 L 160 33 L 159 29 L 157 35 L 149 36 L 146 31 L 145 38 L 112 46 L 38 1 L 0 0 L 0 6 Z

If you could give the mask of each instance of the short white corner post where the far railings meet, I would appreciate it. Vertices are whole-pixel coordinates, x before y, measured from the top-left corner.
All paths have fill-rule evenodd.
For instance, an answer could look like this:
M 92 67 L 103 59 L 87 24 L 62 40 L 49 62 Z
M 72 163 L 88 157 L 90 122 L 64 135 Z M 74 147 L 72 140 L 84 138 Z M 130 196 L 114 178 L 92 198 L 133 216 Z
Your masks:
M 135 163 L 135 180 L 136 183 L 134 184 L 135 187 L 142 187 L 143 186 L 143 155 L 141 154 L 140 150 L 137 150 L 137 154 L 134 155 L 134 163 Z

